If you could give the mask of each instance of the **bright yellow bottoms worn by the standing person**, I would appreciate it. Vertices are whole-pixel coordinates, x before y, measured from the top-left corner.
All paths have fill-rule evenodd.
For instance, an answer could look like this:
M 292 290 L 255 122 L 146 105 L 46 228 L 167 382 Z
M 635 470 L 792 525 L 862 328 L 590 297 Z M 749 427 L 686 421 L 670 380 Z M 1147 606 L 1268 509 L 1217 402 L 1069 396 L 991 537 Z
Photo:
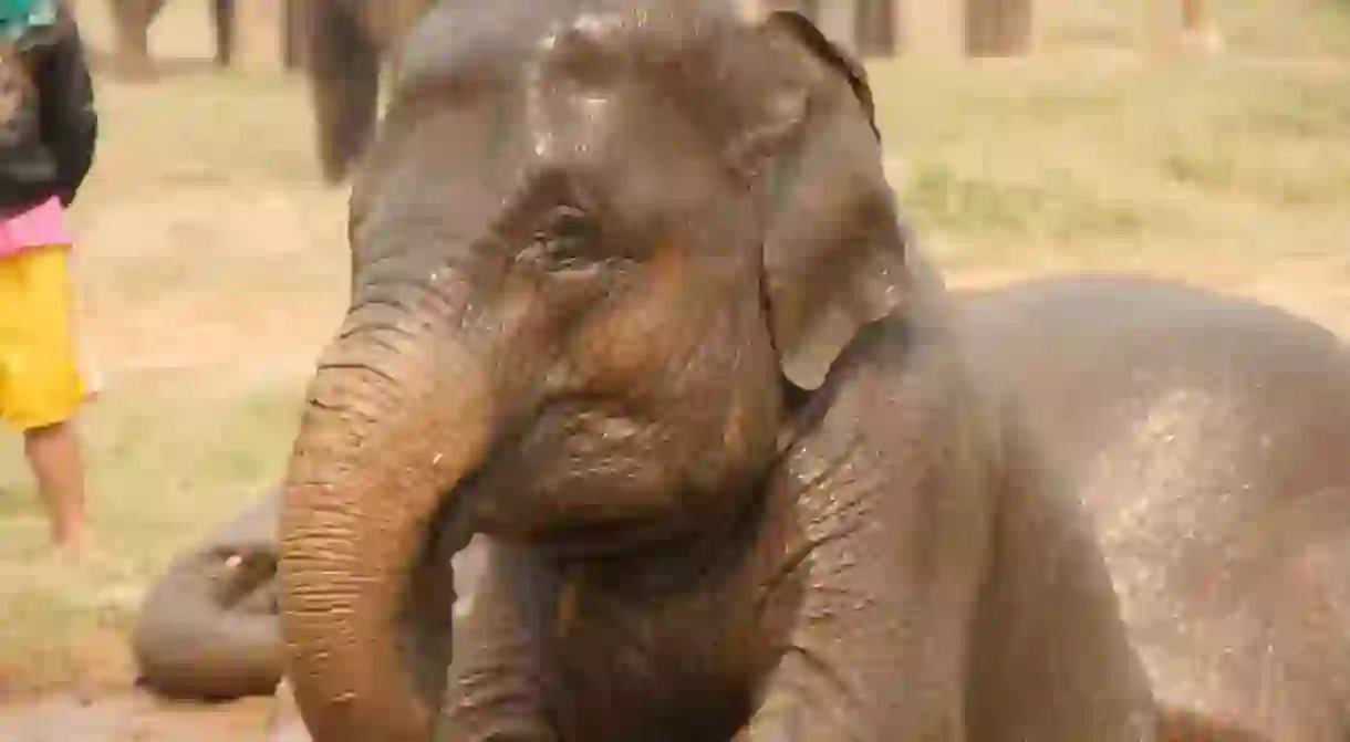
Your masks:
M 0 258 L 0 418 L 19 430 L 70 418 L 84 401 L 70 246 Z

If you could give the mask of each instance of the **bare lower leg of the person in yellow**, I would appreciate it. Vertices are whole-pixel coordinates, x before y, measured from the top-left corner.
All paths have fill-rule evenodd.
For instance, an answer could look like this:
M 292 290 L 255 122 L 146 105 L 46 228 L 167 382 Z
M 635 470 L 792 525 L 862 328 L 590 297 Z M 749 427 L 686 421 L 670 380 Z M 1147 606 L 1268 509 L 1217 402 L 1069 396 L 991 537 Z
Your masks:
M 58 546 L 81 552 L 85 545 L 85 483 L 74 420 L 24 432 L 24 453 L 51 518 Z

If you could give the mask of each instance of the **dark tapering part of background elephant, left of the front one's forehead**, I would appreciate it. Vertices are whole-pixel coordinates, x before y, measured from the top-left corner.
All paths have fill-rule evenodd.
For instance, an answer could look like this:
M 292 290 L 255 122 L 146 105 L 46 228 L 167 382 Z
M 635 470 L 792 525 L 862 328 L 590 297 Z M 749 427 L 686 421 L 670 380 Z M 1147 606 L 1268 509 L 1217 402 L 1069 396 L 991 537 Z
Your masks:
M 305 0 L 305 69 L 315 108 L 319 161 L 342 182 L 370 143 L 387 57 L 435 0 Z

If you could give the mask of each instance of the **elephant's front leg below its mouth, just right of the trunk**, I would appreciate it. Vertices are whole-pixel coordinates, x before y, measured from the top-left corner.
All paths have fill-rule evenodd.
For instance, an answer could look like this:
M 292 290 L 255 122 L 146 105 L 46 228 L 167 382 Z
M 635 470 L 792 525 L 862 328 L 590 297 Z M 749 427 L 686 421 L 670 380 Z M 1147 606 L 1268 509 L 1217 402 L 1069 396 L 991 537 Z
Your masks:
M 487 541 L 473 610 L 455 621 L 436 742 L 555 742 L 544 712 L 543 638 L 554 625 L 558 580 L 521 546 Z

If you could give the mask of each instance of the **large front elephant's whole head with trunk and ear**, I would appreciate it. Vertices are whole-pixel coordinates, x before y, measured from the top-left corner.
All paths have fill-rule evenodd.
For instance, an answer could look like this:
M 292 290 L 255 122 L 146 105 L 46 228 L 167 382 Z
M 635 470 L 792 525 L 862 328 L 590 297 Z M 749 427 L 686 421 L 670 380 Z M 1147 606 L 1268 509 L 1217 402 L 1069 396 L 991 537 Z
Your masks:
M 402 54 L 284 494 L 288 677 L 325 742 L 428 737 L 470 534 L 724 536 L 911 295 L 867 80 L 801 15 L 443 3 Z

